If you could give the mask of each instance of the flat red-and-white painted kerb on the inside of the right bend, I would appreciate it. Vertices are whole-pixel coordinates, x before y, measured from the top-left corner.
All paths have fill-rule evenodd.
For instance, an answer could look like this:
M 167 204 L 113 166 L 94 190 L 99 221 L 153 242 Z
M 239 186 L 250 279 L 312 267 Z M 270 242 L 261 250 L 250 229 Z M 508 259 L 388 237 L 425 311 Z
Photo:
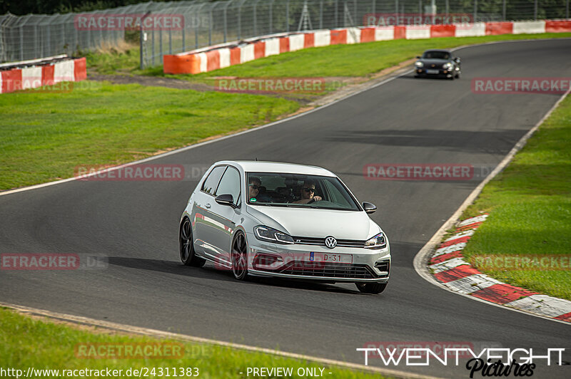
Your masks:
M 435 279 L 459 294 L 571 323 L 571 301 L 502 283 L 464 260 L 462 250 L 466 242 L 486 217 L 482 214 L 460 222 L 456 234 L 438 246 L 428 266 Z

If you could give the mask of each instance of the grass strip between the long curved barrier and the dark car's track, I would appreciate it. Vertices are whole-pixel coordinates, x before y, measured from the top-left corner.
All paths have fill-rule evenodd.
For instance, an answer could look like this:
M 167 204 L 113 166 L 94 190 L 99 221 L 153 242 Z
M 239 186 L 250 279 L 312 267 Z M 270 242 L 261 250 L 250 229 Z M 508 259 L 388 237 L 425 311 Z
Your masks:
M 241 65 L 196 75 L 165 75 L 162 66 L 140 70 L 138 48 L 126 53 L 90 54 L 88 68 L 100 73 L 131 73 L 135 75 L 168 76 L 188 81 L 208 82 L 212 76 L 258 77 L 347 77 L 369 76 L 414 58 L 428 48 L 454 48 L 492 41 L 515 41 L 538 38 L 568 38 L 571 33 L 505 34 L 481 37 L 445 37 L 431 39 L 377 41 L 305 48 L 256 59 Z M 460 53 L 460 56 L 462 54 Z

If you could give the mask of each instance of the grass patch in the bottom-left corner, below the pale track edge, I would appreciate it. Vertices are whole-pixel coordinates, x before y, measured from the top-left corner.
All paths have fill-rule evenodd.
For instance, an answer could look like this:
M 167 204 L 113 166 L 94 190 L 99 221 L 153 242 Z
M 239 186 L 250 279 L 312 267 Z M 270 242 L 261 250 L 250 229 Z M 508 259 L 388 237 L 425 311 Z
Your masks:
M 164 344 L 162 345 L 162 353 L 151 353 L 151 358 L 124 358 L 125 355 L 116 355 L 120 351 L 119 346 L 123 349 L 126 346 L 146 348 L 146 346 L 154 346 L 153 344 L 156 343 Z M 169 368 L 171 370 L 170 376 L 173 377 L 173 368 L 176 368 L 176 375 L 178 376 L 181 376 L 180 368 L 198 368 L 198 378 L 246 378 L 248 367 L 283 367 L 293 368 L 293 375 L 289 378 L 306 377 L 305 375 L 297 375 L 298 368 L 325 368 L 323 375 L 333 378 L 381 378 L 378 374 L 373 375 L 338 367 L 324 367 L 318 363 L 305 360 L 208 344 L 182 343 L 181 354 L 172 354 L 171 351 L 164 348 L 167 344 L 168 346 L 181 347 L 180 342 L 173 340 L 91 333 L 62 324 L 21 316 L 9 309 L 0 308 L 0 367 L 4 370 L 7 368 L 20 369 L 24 371 L 24 375 L 26 375 L 28 368 L 59 370 L 110 368 L 111 370 L 123 370 L 121 378 L 126 378 L 124 373 L 129 368 L 132 370 L 156 368 L 156 376 L 150 376 L 158 377 L 157 368 L 163 368 L 163 376 L 166 376 L 166 368 Z M 98 350 L 91 350 L 91 346 L 95 346 Z M 99 346 L 103 346 L 103 349 Z M 113 354 L 111 347 L 115 349 L 115 358 L 108 358 L 110 354 Z M 93 353 L 97 352 L 101 353 L 98 356 L 102 358 L 81 358 L 94 357 Z M 195 372 L 193 370 L 193 373 Z M 241 372 L 243 374 L 240 374 Z M 320 373 L 320 370 L 317 372 Z M 328 375 L 330 372 L 333 375 Z M 53 378 L 54 376 L 42 375 L 41 377 Z M 83 377 L 99 378 L 97 375 Z M 189 376 L 183 377 L 188 378 Z

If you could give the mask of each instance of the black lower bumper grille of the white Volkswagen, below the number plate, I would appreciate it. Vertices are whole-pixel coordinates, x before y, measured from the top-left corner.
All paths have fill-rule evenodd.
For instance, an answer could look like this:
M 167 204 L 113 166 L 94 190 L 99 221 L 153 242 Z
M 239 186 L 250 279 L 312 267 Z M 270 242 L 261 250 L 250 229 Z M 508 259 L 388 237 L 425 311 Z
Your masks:
M 280 274 L 313 277 L 374 279 L 378 276 L 365 264 L 335 264 L 330 262 L 291 262 Z

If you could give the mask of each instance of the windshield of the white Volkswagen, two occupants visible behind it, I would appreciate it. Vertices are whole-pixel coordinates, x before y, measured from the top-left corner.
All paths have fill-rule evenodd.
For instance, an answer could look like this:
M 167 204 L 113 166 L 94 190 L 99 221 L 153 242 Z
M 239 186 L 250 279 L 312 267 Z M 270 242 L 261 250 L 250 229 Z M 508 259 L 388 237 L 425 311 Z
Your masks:
M 248 204 L 359 211 L 337 177 L 274 172 L 248 172 Z

